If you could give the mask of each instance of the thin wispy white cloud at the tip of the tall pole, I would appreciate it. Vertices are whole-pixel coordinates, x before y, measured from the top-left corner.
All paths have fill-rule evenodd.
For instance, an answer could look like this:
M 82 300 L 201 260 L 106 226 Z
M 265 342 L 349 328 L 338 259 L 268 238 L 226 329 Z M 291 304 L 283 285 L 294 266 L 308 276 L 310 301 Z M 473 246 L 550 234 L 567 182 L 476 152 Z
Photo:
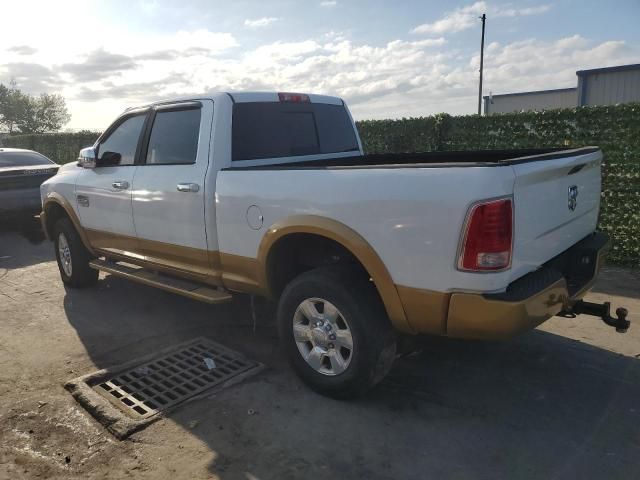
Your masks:
M 551 10 L 551 5 L 539 5 L 535 7 L 512 8 L 503 6 L 488 5 L 484 1 L 475 2 L 466 7 L 456 8 L 444 14 L 442 18 L 432 23 L 418 25 L 411 33 L 417 34 L 438 34 L 461 32 L 479 24 L 478 17 L 483 13 L 491 18 L 514 18 L 530 15 L 540 15 Z

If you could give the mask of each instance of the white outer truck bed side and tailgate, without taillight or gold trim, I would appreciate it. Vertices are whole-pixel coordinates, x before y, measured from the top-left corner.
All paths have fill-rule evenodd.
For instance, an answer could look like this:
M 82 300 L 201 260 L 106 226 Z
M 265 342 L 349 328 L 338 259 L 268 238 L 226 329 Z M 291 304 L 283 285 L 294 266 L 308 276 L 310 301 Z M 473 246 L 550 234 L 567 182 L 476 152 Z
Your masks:
M 220 249 L 234 255 L 258 250 L 260 230 L 251 241 L 246 233 L 251 202 L 266 226 L 305 214 L 349 227 L 367 239 L 399 285 L 500 292 L 593 233 L 601 159 L 598 148 L 588 147 L 332 155 L 232 166 L 216 180 Z M 459 270 L 470 206 L 503 197 L 514 203 L 511 267 L 486 275 Z

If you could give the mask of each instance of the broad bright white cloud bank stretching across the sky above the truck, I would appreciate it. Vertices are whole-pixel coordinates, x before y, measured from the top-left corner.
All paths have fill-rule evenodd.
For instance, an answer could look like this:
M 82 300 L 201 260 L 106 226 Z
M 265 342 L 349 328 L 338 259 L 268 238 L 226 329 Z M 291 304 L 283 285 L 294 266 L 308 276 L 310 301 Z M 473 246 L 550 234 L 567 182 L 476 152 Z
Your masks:
M 371 44 L 350 39 L 347 31 L 247 48 L 229 32 L 185 26 L 149 33 L 102 22 L 79 0 L 68 9 L 41 5 L 41 15 L 30 17 L 35 7 L 29 0 L 11 4 L 12 18 L 32 18 L 33 28 L 3 25 L 11 43 L 0 51 L 0 82 L 13 77 L 30 93 L 64 95 L 73 128 L 104 128 L 124 108 L 155 99 L 225 90 L 339 95 L 360 119 L 470 113 L 477 106 L 479 59 L 449 48 L 445 40 L 464 21 L 412 41 Z M 465 15 L 476 22 L 478 4 L 465 8 L 471 8 Z M 488 8 L 487 14 L 504 18 L 542 13 L 542 7 L 520 8 L 517 14 Z M 95 31 L 78 37 L 80 24 Z M 576 70 L 635 63 L 639 57 L 635 44 L 579 35 L 493 42 L 485 55 L 485 92 L 575 86 Z

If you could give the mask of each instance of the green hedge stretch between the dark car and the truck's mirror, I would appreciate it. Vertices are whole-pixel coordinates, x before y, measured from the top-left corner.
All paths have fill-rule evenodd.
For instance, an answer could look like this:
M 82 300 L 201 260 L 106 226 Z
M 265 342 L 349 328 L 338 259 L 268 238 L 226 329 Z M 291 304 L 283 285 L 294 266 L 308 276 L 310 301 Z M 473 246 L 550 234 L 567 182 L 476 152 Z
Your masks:
M 80 149 L 93 145 L 99 136 L 99 132 L 89 131 L 11 135 L 3 138 L 1 145 L 3 147 L 35 150 L 46 155 L 54 162 L 63 164 L 77 160 Z

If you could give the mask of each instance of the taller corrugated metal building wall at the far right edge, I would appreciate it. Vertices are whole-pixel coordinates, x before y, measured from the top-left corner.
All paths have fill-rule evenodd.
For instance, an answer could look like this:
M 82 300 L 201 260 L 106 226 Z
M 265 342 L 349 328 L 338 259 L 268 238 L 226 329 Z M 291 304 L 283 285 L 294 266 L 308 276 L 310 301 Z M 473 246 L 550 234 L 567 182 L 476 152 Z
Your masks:
M 640 102 L 640 65 L 578 72 L 578 90 L 579 105 Z

